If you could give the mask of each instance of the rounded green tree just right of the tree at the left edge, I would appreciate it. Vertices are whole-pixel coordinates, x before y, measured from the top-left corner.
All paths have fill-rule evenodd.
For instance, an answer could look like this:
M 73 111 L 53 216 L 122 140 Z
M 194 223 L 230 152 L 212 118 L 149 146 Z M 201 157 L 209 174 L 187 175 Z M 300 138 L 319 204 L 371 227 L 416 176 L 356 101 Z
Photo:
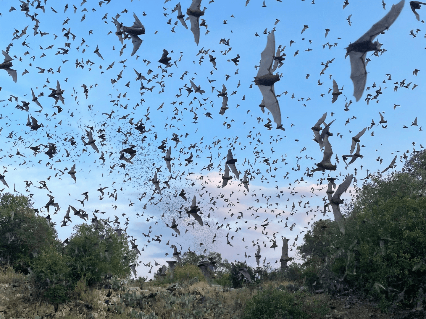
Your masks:
M 117 234 L 110 226 L 99 222 L 95 225 L 83 223 L 74 226 L 64 252 L 71 257 L 70 279 L 77 283 L 86 278 L 89 286 L 102 282 L 105 275 L 118 275 L 130 279 L 130 264 L 138 260 L 137 253 L 130 250 L 126 234 Z

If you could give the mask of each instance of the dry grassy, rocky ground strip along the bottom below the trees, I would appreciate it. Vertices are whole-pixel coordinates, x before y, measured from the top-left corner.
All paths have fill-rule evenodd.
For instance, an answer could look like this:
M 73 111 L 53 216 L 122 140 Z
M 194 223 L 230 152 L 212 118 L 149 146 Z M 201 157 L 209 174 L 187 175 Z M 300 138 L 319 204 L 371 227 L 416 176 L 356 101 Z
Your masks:
M 376 304 L 350 291 L 332 299 L 322 291 L 309 293 L 307 287 L 288 282 L 275 287 L 289 293 L 303 291 L 300 295 L 295 294 L 298 296 L 296 302 L 302 304 L 311 318 L 420 319 L 426 316 L 422 309 L 381 313 Z M 50 305 L 32 297 L 32 285 L 23 276 L 0 282 L 0 319 L 238 319 L 242 316 L 245 301 L 255 293 L 254 289 L 224 288 L 197 280 L 168 286 L 131 282 L 115 289 L 87 289 L 75 300 Z

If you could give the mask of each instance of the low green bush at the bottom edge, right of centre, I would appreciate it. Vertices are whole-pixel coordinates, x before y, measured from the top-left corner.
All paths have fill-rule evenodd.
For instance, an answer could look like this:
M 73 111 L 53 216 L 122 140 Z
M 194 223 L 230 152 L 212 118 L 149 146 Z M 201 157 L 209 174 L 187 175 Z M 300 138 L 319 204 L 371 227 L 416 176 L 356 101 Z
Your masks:
M 295 295 L 295 294 L 294 294 Z M 258 292 L 246 302 L 242 319 L 307 319 L 308 313 L 295 303 L 294 297 L 286 291 L 269 288 Z

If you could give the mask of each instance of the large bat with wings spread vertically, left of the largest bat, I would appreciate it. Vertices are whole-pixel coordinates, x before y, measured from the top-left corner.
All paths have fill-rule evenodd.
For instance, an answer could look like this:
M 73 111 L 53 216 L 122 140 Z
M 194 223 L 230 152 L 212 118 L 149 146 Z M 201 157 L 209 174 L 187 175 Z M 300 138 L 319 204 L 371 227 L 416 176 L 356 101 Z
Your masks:
M 273 121 L 277 128 L 282 128 L 281 111 L 279 110 L 278 100 L 276 99 L 273 84 L 279 81 L 278 74 L 272 74 L 271 68 L 275 57 L 275 35 L 274 31 L 268 35 L 265 50 L 262 51 L 259 71 L 254 78 L 254 83 L 259 87 L 262 93 L 265 107 L 271 112 Z

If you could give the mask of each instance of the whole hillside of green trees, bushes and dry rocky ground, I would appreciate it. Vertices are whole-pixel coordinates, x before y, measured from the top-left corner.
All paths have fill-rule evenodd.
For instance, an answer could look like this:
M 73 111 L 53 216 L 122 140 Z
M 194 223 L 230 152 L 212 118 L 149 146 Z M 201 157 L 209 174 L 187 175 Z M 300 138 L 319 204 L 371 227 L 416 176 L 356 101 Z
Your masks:
M 414 318 L 425 302 L 425 164 L 419 152 L 401 172 L 369 174 L 346 205 L 345 234 L 314 222 L 297 248 L 302 264 L 254 269 L 186 252 L 149 282 L 131 279 L 127 234 L 100 220 L 75 226 L 63 245 L 29 198 L 3 194 L 0 318 Z M 207 259 L 217 268 L 203 274 Z

